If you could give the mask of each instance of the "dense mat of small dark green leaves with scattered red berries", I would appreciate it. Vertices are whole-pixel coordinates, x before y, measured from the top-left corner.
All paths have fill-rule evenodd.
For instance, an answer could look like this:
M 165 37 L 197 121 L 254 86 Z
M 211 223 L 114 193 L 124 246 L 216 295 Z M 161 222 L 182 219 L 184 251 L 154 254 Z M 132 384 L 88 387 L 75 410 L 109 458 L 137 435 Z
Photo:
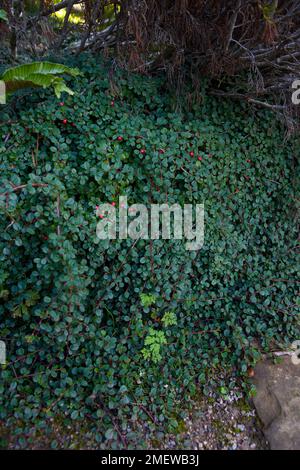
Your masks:
M 141 447 L 214 371 L 246 377 L 299 339 L 299 143 L 267 111 L 203 93 L 176 112 L 161 79 L 76 66 L 64 103 L 37 91 L 2 113 L 0 417 L 20 447 L 54 417 Z M 204 203 L 203 248 L 99 240 L 95 207 L 120 195 Z

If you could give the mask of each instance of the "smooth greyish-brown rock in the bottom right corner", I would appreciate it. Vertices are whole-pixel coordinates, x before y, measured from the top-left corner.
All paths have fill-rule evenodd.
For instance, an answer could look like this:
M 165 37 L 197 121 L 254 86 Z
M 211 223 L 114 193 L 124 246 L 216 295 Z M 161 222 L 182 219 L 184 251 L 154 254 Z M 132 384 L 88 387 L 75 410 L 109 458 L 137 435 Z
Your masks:
M 272 450 L 300 450 L 300 366 L 286 356 L 280 364 L 259 363 L 253 399 Z

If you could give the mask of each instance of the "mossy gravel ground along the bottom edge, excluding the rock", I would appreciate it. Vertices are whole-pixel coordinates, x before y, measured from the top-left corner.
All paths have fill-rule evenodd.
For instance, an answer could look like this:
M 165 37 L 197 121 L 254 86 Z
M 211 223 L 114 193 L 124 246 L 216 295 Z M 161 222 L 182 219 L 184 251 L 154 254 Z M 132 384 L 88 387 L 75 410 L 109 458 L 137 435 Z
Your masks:
M 240 391 L 232 391 L 226 396 L 214 392 L 209 396 L 199 395 L 190 410 L 174 434 L 167 435 L 163 442 L 149 441 L 147 447 L 160 450 L 268 449 L 256 411 Z M 50 428 L 51 432 L 47 436 L 32 429 L 31 443 L 26 444 L 25 448 L 53 448 L 54 440 L 58 448 L 99 448 L 94 434 L 82 423 L 63 427 L 59 420 L 52 420 Z M 0 434 L 3 447 L 20 448 L 18 437 L 9 436 L 4 429 Z

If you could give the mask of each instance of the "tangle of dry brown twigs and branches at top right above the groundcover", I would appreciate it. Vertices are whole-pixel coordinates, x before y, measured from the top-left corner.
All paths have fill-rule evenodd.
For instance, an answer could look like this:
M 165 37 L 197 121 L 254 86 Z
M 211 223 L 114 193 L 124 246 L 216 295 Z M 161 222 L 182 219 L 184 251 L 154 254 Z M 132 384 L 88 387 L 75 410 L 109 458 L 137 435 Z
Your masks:
M 281 112 L 289 126 L 299 118 L 292 83 L 300 77 L 300 3 L 295 0 L 129 0 L 123 10 L 126 48 L 133 69 L 163 69 L 180 87 L 192 77 Z M 123 53 L 124 55 L 124 53 Z M 149 58 L 153 60 L 149 62 Z M 239 77 L 231 80 L 231 77 Z

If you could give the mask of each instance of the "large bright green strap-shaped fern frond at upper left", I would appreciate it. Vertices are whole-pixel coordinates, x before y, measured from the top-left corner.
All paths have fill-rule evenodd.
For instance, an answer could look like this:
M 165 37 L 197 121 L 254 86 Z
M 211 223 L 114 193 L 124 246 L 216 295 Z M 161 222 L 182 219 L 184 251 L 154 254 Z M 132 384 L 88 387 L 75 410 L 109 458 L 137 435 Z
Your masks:
M 60 74 L 76 77 L 80 75 L 80 71 L 62 64 L 33 62 L 6 70 L 2 75 L 2 80 L 6 84 L 8 94 L 24 88 L 50 86 L 54 88 L 58 98 L 63 91 L 73 94 L 72 90 L 65 85 L 63 78 L 57 76 Z

